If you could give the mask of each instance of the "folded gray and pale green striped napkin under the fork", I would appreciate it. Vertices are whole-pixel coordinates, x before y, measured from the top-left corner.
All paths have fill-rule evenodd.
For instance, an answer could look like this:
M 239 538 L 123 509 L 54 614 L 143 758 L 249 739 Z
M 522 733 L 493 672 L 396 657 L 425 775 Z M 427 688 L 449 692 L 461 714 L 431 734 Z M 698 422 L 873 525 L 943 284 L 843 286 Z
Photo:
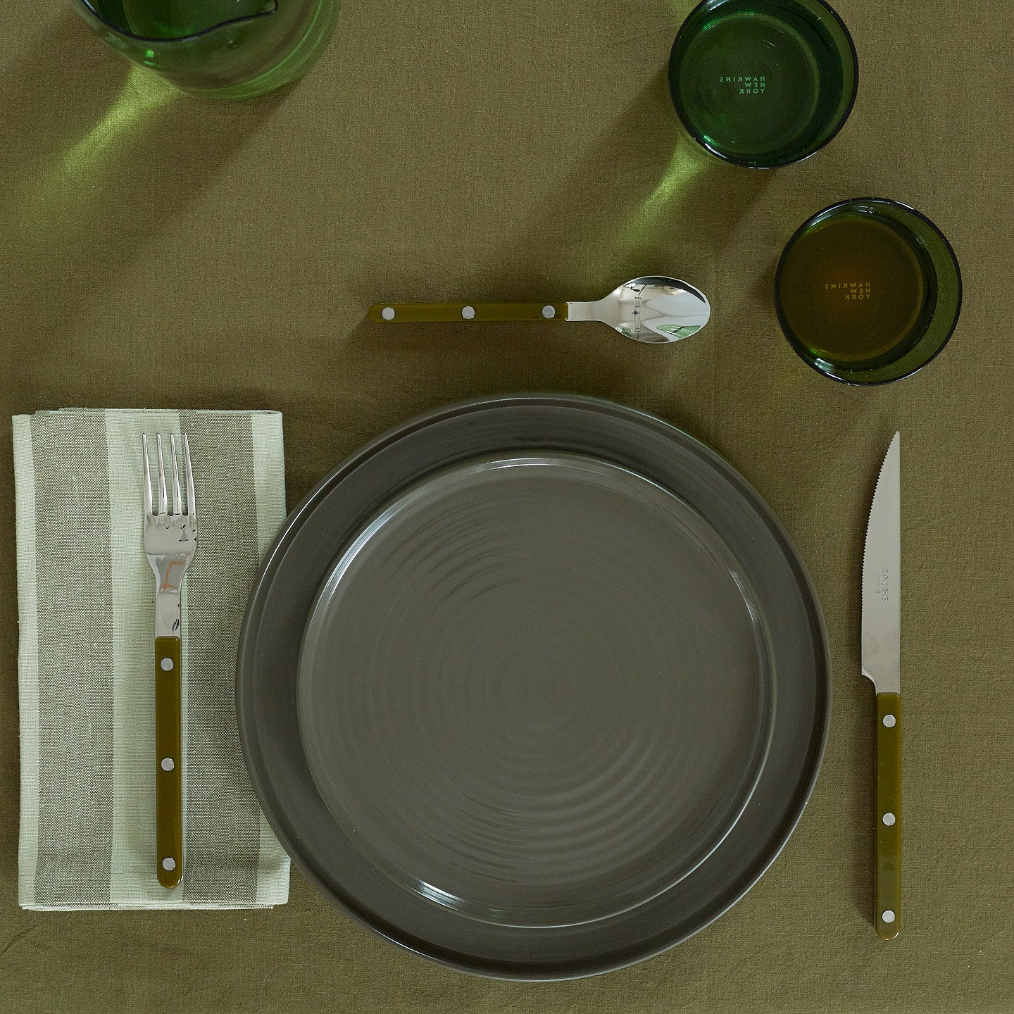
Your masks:
M 69 409 L 13 424 L 21 907 L 284 903 L 289 859 L 243 766 L 234 698 L 246 598 L 285 516 L 281 415 Z M 183 604 L 184 878 L 170 890 L 155 873 L 142 432 L 186 432 L 197 486 Z

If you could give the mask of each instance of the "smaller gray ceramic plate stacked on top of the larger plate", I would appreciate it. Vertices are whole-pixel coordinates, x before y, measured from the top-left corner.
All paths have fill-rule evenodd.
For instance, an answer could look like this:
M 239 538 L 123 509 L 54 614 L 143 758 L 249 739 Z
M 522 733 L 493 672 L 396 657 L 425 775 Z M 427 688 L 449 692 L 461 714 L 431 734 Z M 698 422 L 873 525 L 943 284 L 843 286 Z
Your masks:
M 406 890 L 568 926 L 654 897 L 725 837 L 767 746 L 769 667 L 693 507 L 593 457 L 480 457 L 339 557 L 299 726 L 342 832 Z

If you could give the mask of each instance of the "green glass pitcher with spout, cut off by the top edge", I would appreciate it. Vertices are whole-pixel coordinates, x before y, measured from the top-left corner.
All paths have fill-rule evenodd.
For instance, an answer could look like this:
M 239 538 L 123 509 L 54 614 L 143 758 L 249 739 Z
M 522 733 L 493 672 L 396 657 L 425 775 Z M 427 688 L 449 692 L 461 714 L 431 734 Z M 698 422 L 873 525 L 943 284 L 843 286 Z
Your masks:
M 246 98 L 304 74 L 338 0 L 74 0 L 118 53 L 197 94 Z

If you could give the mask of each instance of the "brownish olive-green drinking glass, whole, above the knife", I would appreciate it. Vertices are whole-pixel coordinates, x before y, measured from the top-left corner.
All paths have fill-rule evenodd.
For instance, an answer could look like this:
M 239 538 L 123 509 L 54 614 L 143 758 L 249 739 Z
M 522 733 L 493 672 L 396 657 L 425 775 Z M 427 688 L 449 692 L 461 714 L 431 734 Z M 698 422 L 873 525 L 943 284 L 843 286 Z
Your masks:
M 789 240 L 775 276 L 789 344 L 817 372 L 886 383 L 922 369 L 961 311 L 961 272 L 944 234 L 883 198 L 832 204 Z

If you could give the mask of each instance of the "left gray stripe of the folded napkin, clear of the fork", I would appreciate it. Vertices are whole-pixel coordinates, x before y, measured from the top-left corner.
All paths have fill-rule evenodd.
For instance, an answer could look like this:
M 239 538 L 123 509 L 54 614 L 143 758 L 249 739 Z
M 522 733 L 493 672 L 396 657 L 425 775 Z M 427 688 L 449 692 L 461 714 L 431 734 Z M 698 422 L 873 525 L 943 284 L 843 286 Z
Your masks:
M 31 420 L 39 603 L 39 904 L 103 902 L 113 853 L 105 421 Z M 80 843 L 80 853 L 68 843 Z

